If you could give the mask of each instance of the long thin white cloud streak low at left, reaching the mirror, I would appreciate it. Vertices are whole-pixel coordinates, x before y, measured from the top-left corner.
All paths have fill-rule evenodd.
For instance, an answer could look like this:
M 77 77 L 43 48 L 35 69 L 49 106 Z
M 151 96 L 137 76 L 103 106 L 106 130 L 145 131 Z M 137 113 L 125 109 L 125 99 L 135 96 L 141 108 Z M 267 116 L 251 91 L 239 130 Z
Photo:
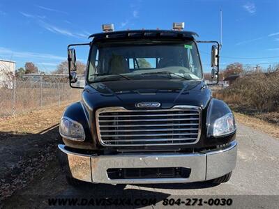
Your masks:
M 0 54 L 6 56 L 13 56 L 19 58 L 28 58 L 28 59 L 54 59 L 54 60 L 66 60 L 67 58 L 64 56 L 56 56 L 53 54 L 41 54 L 36 52 L 18 52 L 13 51 L 12 49 L 8 49 L 5 47 L 0 47 Z

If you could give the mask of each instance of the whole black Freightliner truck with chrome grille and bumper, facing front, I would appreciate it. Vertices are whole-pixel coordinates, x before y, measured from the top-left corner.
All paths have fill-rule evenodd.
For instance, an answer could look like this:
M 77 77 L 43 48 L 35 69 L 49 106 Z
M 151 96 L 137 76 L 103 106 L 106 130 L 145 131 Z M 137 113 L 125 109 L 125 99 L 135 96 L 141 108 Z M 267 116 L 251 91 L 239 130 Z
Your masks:
M 82 99 L 63 112 L 59 162 L 68 183 L 225 183 L 236 165 L 236 123 L 227 104 L 204 82 L 197 42 L 216 41 L 172 30 L 91 35 Z M 70 86 L 77 82 L 68 46 Z

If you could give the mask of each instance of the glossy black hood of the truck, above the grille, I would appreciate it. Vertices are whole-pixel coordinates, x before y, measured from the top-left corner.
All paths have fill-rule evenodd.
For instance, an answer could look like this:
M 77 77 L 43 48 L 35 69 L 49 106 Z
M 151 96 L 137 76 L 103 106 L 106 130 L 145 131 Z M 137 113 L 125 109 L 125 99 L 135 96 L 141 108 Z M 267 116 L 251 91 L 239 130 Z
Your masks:
M 89 109 L 125 107 L 135 109 L 138 102 L 160 102 L 161 108 L 174 105 L 206 107 L 211 91 L 203 81 L 120 80 L 87 84 L 82 102 Z

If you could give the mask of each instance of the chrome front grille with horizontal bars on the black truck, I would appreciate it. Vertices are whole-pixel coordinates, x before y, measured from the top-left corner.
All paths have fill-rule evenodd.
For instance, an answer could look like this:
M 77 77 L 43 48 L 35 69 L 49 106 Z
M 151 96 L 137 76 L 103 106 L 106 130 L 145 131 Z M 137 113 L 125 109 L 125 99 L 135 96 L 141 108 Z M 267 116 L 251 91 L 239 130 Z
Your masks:
M 202 111 L 194 106 L 96 111 L 98 139 L 103 146 L 167 146 L 199 141 Z

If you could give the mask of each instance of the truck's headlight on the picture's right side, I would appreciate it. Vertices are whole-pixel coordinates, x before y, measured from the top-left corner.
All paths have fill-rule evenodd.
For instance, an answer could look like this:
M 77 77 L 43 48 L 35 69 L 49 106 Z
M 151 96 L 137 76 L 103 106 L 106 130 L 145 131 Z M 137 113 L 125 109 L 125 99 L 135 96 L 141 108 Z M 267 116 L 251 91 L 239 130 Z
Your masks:
M 213 136 L 221 137 L 230 134 L 236 130 L 234 115 L 232 113 L 225 114 L 225 116 L 216 119 L 213 125 Z

